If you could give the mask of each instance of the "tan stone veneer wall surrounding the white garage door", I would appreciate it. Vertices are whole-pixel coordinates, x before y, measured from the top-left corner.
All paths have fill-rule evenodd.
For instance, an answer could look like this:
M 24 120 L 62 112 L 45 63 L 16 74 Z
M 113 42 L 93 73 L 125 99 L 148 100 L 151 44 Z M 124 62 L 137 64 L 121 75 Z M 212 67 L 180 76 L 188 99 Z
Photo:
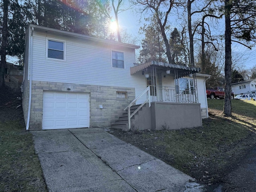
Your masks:
M 42 129 L 43 92 L 48 90 L 90 93 L 90 127 L 109 128 L 135 98 L 134 88 L 32 81 L 30 130 Z M 117 91 L 127 92 L 127 99 L 116 98 Z M 28 103 L 28 100 L 25 98 L 24 102 Z M 99 105 L 103 109 L 99 109 Z

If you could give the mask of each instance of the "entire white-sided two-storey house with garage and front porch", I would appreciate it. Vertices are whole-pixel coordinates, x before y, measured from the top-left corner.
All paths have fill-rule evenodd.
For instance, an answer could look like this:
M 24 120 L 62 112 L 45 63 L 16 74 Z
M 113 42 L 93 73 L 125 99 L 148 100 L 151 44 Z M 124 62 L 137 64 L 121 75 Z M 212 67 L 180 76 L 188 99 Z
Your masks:
M 133 129 L 202 126 L 202 118 L 208 118 L 209 75 L 162 62 L 134 64 L 138 48 L 28 26 L 22 88 L 26 128 L 128 128 L 130 118 L 123 113 L 135 98 L 134 104 L 146 105 L 131 118 Z

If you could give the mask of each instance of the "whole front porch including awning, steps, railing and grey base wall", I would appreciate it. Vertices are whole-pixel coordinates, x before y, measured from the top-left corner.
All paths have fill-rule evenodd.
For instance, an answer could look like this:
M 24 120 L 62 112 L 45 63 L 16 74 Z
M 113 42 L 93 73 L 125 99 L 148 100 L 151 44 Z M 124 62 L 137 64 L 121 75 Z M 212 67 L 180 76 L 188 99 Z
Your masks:
M 152 61 L 130 71 L 131 75 L 144 75 L 147 88 L 124 109 L 112 128 L 163 130 L 202 126 L 196 78 L 200 68 Z

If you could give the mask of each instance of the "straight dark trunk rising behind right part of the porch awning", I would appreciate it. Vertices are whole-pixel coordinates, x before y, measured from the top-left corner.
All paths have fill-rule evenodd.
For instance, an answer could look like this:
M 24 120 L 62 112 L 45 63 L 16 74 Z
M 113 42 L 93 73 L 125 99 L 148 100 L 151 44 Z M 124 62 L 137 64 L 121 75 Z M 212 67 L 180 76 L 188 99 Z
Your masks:
M 188 0 L 188 35 L 189 35 L 189 49 L 190 49 L 190 65 L 194 67 L 194 41 L 193 41 L 193 34 L 192 34 L 192 26 L 191 26 L 191 1 Z

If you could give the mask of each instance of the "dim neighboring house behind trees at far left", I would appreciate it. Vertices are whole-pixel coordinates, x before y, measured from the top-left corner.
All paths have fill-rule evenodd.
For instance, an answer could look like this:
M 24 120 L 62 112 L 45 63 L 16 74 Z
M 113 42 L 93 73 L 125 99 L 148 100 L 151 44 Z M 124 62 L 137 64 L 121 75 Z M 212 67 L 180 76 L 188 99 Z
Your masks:
M 22 67 L 19 65 L 6 62 L 6 66 L 4 66 L 4 81 L 5 82 L 22 82 L 22 80 L 23 80 Z

